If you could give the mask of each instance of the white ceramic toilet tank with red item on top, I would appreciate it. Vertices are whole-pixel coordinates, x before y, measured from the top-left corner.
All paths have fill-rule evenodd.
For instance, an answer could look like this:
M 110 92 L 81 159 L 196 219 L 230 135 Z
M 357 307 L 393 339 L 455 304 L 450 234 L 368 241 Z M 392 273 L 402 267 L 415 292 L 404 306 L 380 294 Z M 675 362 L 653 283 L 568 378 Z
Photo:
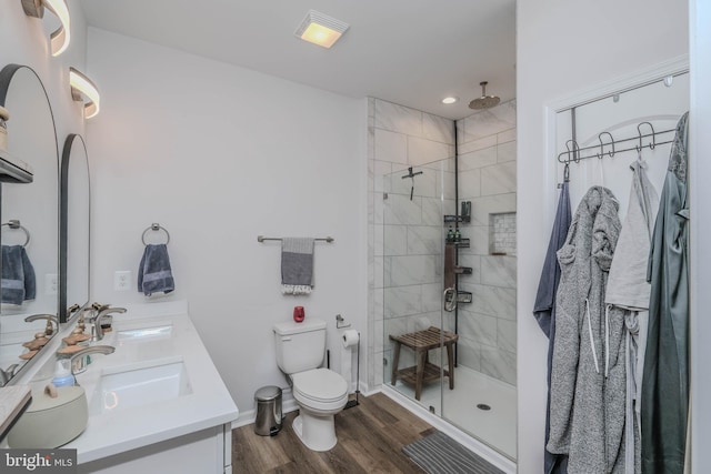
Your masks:
M 282 372 L 296 374 L 323 364 L 326 321 L 309 317 L 301 323 L 274 324 L 277 364 Z

